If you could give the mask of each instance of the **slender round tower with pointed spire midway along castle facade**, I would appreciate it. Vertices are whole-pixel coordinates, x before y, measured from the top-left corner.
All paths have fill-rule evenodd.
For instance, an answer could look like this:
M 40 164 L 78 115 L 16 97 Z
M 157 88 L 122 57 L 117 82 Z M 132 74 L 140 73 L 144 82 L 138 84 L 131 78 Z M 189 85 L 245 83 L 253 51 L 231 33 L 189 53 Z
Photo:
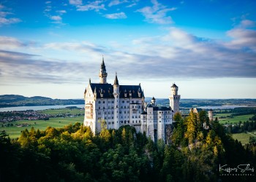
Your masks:
M 119 115 L 119 84 L 118 84 L 118 79 L 117 79 L 117 74 L 116 78 L 113 84 L 113 95 L 115 98 L 114 101 L 114 128 L 117 130 L 119 128 L 120 123 L 118 123 L 118 115 Z

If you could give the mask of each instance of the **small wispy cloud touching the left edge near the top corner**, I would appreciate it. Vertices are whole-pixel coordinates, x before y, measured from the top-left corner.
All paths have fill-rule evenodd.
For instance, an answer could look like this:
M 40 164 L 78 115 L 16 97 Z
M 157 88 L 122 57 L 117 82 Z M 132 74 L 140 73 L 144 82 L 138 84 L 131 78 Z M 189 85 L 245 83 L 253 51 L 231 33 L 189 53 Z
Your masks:
M 20 18 L 18 17 L 10 17 L 14 14 L 9 11 L 10 9 L 7 9 L 6 7 L 4 7 L 4 5 L 0 4 L 0 26 L 21 22 Z

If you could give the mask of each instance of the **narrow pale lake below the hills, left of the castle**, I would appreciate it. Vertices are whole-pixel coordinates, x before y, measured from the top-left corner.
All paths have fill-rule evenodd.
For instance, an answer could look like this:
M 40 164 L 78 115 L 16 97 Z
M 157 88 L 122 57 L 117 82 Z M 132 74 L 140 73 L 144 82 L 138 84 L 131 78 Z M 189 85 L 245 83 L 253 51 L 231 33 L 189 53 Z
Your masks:
M 84 104 L 78 104 L 78 105 L 57 105 L 57 106 L 20 106 L 20 107 L 9 107 L 9 108 L 0 108 L 0 112 L 4 111 L 26 111 L 26 110 L 45 110 L 49 108 L 67 108 L 67 107 L 78 107 L 78 108 L 84 108 Z

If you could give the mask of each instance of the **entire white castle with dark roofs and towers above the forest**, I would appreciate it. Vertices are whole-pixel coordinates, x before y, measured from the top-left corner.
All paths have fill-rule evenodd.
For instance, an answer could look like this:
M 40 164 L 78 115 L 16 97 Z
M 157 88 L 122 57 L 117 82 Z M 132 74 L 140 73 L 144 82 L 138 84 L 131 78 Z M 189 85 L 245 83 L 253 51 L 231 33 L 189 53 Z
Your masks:
M 107 83 L 107 71 L 104 58 L 99 71 L 99 83 L 91 83 L 84 92 L 85 116 L 83 124 L 91 127 L 92 132 L 101 130 L 101 122 L 107 128 L 118 129 L 123 125 L 135 127 L 137 132 L 146 132 L 153 141 L 166 141 L 167 128 L 173 123 L 173 114 L 179 112 L 178 87 L 170 87 L 170 107 L 158 107 L 155 98 L 145 103 L 143 90 L 138 85 L 119 85 L 118 78 L 114 84 Z

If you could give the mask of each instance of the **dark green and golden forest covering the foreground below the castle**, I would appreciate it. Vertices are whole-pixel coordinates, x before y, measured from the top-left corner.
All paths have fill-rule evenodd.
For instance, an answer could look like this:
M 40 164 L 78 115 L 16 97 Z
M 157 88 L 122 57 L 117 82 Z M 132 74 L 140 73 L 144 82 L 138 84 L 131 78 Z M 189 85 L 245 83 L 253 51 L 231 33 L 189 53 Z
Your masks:
M 171 141 L 156 143 L 130 126 L 93 135 L 79 123 L 0 134 L 0 181 L 248 181 L 222 176 L 219 165 L 255 167 L 255 144 L 234 141 L 206 111 L 175 116 Z M 254 173 L 255 174 L 255 173 Z

